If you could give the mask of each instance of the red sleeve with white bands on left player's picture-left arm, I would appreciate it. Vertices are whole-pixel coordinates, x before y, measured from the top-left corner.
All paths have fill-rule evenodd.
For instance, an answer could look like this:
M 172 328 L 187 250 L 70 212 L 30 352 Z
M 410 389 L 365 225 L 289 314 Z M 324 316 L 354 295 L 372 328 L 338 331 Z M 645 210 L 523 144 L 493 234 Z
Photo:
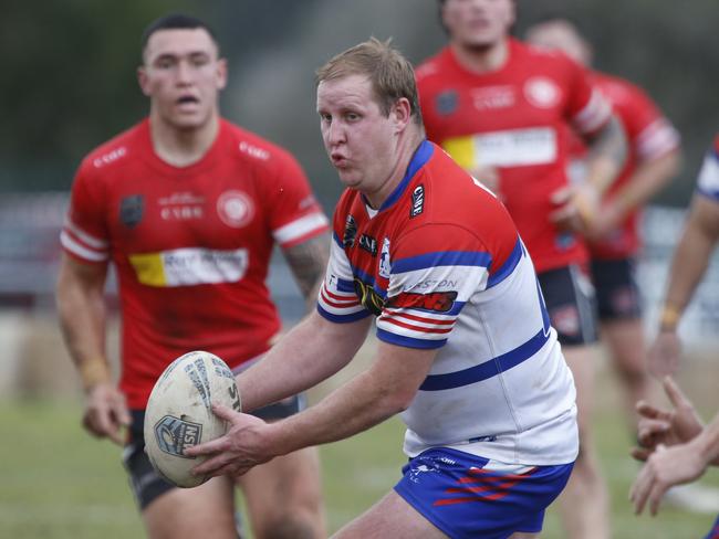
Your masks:
M 60 243 L 82 262 L 104 263 L 110 260 L 107 209 L 100 179 L 91 167 L 90 162 L 83 163 L 75 176 Z

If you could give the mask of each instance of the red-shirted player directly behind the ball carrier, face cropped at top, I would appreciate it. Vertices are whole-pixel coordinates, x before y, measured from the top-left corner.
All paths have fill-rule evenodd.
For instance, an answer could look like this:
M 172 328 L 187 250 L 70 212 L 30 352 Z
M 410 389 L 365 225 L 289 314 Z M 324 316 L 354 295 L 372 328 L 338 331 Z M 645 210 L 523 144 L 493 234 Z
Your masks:
M 512 0 L 440 0 L 449 45 L 417 70 L 427 137 L 507 204 L 536 266 L 577 387 L 581 451 L 560 497 L 571 537 L 606 538 L 608 504 L 588 432 L 596 313 L 581 232 L 624 166 L 609 103 L 566 56 L 509 35 Z M 567 126 L 590 147 L 587 181 L 567 179 Z

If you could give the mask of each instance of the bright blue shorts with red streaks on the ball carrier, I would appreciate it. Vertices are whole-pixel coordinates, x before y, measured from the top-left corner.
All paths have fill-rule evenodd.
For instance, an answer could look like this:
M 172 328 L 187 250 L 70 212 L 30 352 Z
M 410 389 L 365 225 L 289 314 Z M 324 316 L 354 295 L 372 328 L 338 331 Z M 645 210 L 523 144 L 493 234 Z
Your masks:
M 542 530 L 544 510 L 573 466 L 503 465 L 435 447 L 403 467 L 395 490 L 450 538 L 504 539 L 517 531 Z

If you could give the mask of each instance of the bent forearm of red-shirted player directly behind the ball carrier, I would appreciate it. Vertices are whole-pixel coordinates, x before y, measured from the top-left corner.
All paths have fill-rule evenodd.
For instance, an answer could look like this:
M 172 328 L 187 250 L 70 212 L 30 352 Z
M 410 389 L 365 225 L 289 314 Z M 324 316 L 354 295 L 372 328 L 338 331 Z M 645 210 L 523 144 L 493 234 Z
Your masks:
M 602 194 L 617 178 L 626 161 L 628 147 L 619 120 L 612 116 L 587 144 L 586 181 Z

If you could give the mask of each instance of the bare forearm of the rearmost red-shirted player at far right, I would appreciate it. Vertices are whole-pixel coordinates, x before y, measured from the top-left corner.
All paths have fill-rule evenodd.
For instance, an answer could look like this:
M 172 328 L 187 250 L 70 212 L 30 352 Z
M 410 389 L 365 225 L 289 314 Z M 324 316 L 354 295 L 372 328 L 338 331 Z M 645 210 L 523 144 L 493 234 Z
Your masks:
M 613 198 L 622 215 L 648 202 L 679 171 L 679 150 L 669 151 L 637 166 L 626 186 Z

